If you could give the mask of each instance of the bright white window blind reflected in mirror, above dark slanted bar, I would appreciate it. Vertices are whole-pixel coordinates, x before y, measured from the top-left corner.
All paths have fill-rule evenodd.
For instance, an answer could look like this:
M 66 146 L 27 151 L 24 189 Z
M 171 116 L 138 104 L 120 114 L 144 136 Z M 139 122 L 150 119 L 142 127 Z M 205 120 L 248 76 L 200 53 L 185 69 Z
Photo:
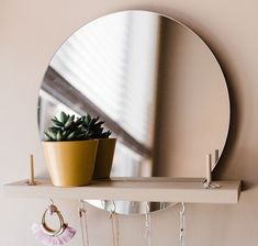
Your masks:
M 72 34 L 51 62 L 72 87 L 149 147 L 157 33 L 156 16 L 136 20 L 132 13 L 111 14 Z

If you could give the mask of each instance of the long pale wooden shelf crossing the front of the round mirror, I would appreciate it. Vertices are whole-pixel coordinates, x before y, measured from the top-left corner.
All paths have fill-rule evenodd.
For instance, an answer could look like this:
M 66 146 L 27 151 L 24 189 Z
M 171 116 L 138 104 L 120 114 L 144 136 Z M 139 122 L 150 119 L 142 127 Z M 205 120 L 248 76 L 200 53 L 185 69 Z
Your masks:
M 164 201 L 187 203 L 234 204 L 240 194 L 240 181 L 215 181 L 218 189 L 204 189 L 201 179 L 171 178 L 114 178 L 94 180 L 90 186 L 60 188 L 51 180 L 37 179 L 40 185 L 26 181 L 4 186 L 7 197 L 53 198 L 120 201 Z

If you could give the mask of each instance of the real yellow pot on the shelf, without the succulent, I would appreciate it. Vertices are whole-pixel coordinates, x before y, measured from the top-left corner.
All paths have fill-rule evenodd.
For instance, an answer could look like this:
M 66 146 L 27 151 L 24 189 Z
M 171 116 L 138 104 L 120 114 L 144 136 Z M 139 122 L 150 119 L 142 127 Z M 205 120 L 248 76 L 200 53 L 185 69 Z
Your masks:
M 92 180 L 99 141 L 43 142 L 46 165 L 56 187 L 87 186 Z

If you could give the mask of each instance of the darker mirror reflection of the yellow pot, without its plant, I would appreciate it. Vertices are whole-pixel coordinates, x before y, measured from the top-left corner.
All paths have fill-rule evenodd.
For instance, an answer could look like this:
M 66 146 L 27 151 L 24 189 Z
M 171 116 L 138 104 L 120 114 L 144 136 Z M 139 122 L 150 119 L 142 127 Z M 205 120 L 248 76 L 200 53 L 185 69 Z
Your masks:
M 110 178 L 116 138 L 100 138 L 94 165 L 94 179 Z

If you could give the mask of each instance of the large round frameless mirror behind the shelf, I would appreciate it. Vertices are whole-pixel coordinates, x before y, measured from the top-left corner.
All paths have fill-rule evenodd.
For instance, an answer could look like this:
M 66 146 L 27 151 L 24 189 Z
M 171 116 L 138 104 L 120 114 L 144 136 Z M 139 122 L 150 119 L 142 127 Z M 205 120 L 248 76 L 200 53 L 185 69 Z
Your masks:
M 117 137 L 111 177 L 203 178 L 206 154 L 214 168 L 229 127 L 226 81 L 212 52 L 187 26 L 148 11 L 105 15 L 60 46 L 40 90 L 42 139 L 60 111 L 98 115 Z M 115 208 L 145 211 L 132 201 Z

